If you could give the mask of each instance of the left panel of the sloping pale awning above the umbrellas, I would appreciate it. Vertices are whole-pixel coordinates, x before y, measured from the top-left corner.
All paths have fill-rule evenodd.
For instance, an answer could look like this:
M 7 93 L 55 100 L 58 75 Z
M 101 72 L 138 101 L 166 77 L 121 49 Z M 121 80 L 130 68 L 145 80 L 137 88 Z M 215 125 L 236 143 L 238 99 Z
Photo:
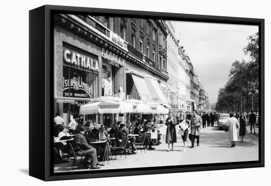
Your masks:
M 140 96 L 140 99 L 144 102 L 151 101 L 151 94 L 149 92 L 149 89 L 147 87 L 147 84 L 143 77 L 140 77 L 138 75 L 135 75 L 134 73 L 131 73 L 136 90 Z

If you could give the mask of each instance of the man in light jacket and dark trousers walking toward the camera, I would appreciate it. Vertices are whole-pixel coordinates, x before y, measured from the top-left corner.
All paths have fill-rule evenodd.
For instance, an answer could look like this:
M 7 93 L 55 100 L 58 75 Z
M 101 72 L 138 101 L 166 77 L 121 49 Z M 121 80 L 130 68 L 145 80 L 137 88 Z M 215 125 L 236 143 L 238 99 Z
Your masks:
M 191 147 L 194 148 L 194 142 L 195 138 L 197 139 L 197 146 L 200 146 L 200 134 L 201 134 L 201 128 L 202 128 L 202 118 L 197 115 L 197 111 L 193 111 L 193 116 L 191 117 L 190 120 L 190 127 L 191 127 Z

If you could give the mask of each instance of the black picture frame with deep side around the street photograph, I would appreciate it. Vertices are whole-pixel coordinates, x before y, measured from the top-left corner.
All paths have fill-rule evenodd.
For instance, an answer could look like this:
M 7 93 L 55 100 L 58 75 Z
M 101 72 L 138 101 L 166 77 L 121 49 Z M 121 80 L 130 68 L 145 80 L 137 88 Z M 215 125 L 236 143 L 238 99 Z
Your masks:
M 84 15 L 110 14 L 113 16 L 137 16 L 153 19 L 168 19 L 190 22 L 209 22 L 239 25 L 259 26 L 259 65 L 260 65 L 260 106 L 261 125 L 259 126 L 259 160 L 230 163 L 210 163 L 197 165 L 127 168 L 119 170 L 104 170 L 102 172 L 69 172 L 53 173 L 51 145 L 53 140 L 50 127 L 54 116 L 53 105 L 53 14 L 70 13 Z M 191 14 L 176 14 L 164 12 L 146 12 L 134 10 L 100 9 L 87 7 L 44 5 L 29 12 L 29 174 L 44 181 L 103 178 L 131 175 L 163 174 L 176 172 L 207 171 L 221 169 L 237 169 L 265 166 L 264 142 L 264 31 L 265 20 L 239 17 L 206 16 Z

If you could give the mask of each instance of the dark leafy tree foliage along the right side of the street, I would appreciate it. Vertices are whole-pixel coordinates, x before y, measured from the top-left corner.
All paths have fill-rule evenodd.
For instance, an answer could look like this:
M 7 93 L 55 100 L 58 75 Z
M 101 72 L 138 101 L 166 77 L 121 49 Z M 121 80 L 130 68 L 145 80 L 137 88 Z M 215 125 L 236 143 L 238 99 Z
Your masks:
M 250 61 L 235 61 L 232 63 L 229 79 L 226 85 L 219 89 L 216 109 L 220 111 L 237 111 L 246 101 L 259 100 L 259 33 L 249 36 L 248 45 L 243 48 L 244 54 L 250 56 Z M 252 100 L 253 101 L 253 100 Z M 240 110 L 242 110 L 240 108 Z

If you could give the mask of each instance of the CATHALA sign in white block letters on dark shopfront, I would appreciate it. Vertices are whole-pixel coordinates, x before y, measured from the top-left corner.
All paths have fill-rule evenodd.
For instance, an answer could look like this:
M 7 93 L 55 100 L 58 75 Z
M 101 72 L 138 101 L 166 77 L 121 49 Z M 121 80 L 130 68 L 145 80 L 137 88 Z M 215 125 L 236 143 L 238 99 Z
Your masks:
M 80 54 L 69 49 L 65 49 L 63 52 L 63 59 L 66 63 L 73 64 L 77 67 L 87 68 L 88 70 L 94 70 L 99 72 L 99 64 L 97 59 Z

